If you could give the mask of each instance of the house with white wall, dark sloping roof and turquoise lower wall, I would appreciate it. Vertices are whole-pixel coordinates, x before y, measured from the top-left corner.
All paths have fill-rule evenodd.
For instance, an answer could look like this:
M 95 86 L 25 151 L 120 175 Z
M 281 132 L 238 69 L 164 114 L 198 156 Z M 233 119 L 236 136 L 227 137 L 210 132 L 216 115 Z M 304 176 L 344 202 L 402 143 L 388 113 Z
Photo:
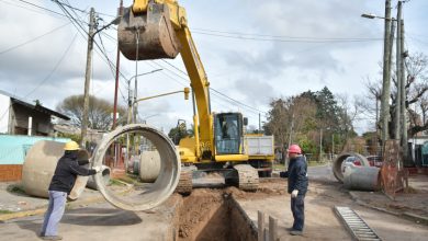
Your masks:
M 70 119 L 40 104 L 32 104 L 0 90 L 0 182 L 20 181 L 26 151 L 38 140 L 55 138 L 52 118 Z

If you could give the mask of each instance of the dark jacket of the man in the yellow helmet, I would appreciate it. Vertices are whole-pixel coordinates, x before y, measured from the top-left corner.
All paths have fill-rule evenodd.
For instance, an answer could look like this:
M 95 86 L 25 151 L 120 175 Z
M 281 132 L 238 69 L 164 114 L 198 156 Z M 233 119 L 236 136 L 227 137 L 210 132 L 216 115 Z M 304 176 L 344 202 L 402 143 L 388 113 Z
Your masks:
M 93 175 L 95 173 L 95 170 L 89 170 L 79 165 L 77 161 L 77 151 L 66 152 L 56 164 L 49 191 L 59 191 L 70 194 L 77 175 Z

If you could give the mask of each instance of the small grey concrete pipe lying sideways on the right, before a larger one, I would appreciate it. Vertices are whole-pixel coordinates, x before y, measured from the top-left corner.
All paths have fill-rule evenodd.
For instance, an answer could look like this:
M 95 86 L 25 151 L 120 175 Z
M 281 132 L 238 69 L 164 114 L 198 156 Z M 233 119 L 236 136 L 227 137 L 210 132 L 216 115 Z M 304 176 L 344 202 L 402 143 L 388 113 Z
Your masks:
M 381 180 L 380 169 L 375 167 L 358 167 L 346 164 L 343 173 L 343 186 L 348 190 L 379 191 Z

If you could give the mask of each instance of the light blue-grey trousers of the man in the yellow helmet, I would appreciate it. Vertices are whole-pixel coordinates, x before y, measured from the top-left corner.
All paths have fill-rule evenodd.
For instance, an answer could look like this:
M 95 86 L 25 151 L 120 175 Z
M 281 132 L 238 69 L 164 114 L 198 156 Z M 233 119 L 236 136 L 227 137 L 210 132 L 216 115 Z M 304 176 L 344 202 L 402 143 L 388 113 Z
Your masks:
M 41 236 L 57 236 L 58 223 L 66 208 L 67 193 L 49 191 L 49 205 L 43 221 Z

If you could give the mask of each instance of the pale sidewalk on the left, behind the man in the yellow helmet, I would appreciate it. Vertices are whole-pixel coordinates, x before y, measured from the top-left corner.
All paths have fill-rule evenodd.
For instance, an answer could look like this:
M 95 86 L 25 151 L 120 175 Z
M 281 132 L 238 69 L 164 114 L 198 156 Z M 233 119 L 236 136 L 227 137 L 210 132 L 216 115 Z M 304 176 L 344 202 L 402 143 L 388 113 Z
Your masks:
M 67 202 L 67 208 L 104 202 L 100 192 L 86 188 L 75 202 Z M 0 222 L 9 219 L 45 213 L 47 198 L 26 195 L 19 182 L 0 183 Z

